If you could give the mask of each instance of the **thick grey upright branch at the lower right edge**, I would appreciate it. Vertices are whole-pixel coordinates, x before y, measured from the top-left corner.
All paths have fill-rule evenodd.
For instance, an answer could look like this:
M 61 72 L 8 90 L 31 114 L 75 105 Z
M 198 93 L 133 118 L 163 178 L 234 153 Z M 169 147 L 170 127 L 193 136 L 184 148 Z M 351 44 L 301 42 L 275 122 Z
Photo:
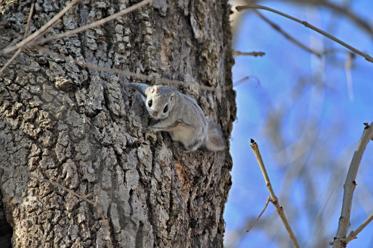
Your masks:
M 352 157 L 350 168 L 348 169 L 347 178 L 345 184 L 343 185 L 343 202 L 342 202 L 342 211 L 341 217 L 338 222 L 338 230 L 335 235 L 334 241 L 330 242 L 333 245 L 333 248 L 344 248 L 346 247 L 346 235 L 348 228 L 350 227 L 350 215 L 351 215 L 351 206 L 352 206 L 352 196 L 356 187 L 356 175 L 360 165 L 361 158 L 363 157 L 365 148 L 367 147 L 370 139 L 373 136 L 373 122 L 370 125 L 366 125 L 361 135 L 360 141 L 357 144 L 357 147 Z

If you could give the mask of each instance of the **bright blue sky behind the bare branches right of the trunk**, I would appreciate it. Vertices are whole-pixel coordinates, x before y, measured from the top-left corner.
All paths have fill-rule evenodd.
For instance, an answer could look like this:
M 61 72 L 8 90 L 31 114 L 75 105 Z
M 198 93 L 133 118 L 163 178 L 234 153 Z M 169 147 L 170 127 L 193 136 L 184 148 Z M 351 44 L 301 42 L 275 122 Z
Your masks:
M 232 4 L 235 6 L 233 1 Z M 306 20 L 373 55 L 372 36 L 329 9 L 284 1 L 263 1 L 260 4 Z M 353 1 L 351 9 L 373 25 L 371 0 Z M 260 11 L 308 47 L 347 51 L 299 23 Z M 271 205 L 256 228 L 242 235 L 238 244 L 234 241 L 238 231 L 244 232 L 250 226 L 250 218 L 256 218 L 269 196 L 250 148 L 250 139 L 253 138 L 259 145 L 275 193 L 280 204 L 285 206 L 285 214 L 289 215 L 301 247 L 314 247 L 306 237 L 310 233 L 311 238 L 316 235 L 317 225 L 325 228 L 322 236 L 328 240 L 325 247 L 329 247 L 341 213 L 343 183 L 363 132 L 363 122 L 373 121 L 373 63 L 358 55 L 353 60 L 354 67 L 350 70 L 352 101 L 347 86 L 348 72 L 345 70 L 346 52 L 317 58 L 283 38 L 250 10 L 244 10 L 236 19 L 233 49 L 263 51 L 266 55 L 235 57 L 233 81 L 250 75 L 255 77 L 235 88 L 238 120 L 233 125 L 231 140 L 233 184 L 224 213 L 225 245 L 289 245 L 286 243 L 285 228 Z M 261 87 L 257 87 L 258 81 Z M 276 116 L 280 117 L 276 119 Z M 280 120 L 276 130 L 273 129 L 274 120 Z M 276 135 L 281 139 L 273 139 Z M 357 176 L 358 187 L 352 203 L 349 232 L 373 213 L 372 151 L 373 142 L 370 142 Z M 288 180 L 289 177 L 292 179 Z M 309 195 L 310 188 L 314 192 L 312 197 Z M 321 222 L 316 222 L 318 217 Z M 278 233 L 274 235 L 277 229 Z M 370 223 L 347 247 L 373 247 L 372 233 L 373 223 Z M 274 241 L 279 237 L 285 240 L 282 245 Z

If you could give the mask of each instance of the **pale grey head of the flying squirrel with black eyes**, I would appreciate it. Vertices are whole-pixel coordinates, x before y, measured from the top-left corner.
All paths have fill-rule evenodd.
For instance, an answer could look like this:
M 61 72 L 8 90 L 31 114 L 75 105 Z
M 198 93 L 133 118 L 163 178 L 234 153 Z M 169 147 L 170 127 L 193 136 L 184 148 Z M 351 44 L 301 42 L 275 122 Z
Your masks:
M 167 86 L 155 85 L 145 91 L 146 109 L 150 117 L 161 120 L 166 119 L 175 106 L 175 91 Z

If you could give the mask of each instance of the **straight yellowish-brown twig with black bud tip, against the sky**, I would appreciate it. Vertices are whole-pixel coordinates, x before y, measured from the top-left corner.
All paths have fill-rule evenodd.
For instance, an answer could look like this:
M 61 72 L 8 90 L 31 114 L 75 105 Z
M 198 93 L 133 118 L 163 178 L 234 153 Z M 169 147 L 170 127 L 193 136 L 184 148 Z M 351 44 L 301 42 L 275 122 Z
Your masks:
M 271 182 L 269 180 L 269 177 L 268 177 L 268 174 L 267 174 L 267 171 L 266 171 L 266 167 L 264 167 L 264 162 L 263 162 L 263 159 L 261 158 L 261 155 L 260 155 L 260 152 L 259 152 L 258 144 L 253 139 L 251 139 L 251 148 L 253 149 L 255 157 L 257 158 L 258 164 L 260 166 L 261 173 L 263 174 L 264 180 L 266 181 L 266 184 L 267 184 L 268 191 L 269 191 L 269 193 L 272 197 L 271 202 L 276 207 L 277 213 L 279 214 L 279 216 L 280 216 L 280 218 L 283 222 L 283 225 L 286 228 L 286 231 L 288 231 L 289 237 L 290 237 L 291 241 L 293 242 L 294 247 L 299 248 L 298 241 L 295 238 L 293 231 L 291 230 L 289 222 L 286 219 L 285 213 L 283 212 L 283 208 L 280 206 L 278 198 L 275 195 L 275 192 L 273 191 Z

